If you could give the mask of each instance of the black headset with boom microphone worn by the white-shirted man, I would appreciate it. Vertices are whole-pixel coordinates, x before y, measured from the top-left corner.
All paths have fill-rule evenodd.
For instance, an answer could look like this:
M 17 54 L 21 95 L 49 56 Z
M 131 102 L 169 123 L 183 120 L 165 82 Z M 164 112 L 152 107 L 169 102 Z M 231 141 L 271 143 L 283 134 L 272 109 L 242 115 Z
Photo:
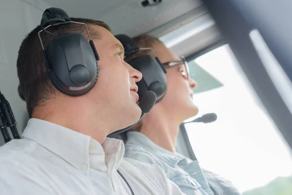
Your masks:
M 70 23 L 84 24 L 90 41 L 87 41 L 81 33 L 64 33 L 56 36 L 47 30 L 51 26 L 68 25 Z M 81 96 L 88 93 L 97 82 L 99 56 L 91 40 L 87 25 L 71 21 L 62 9 L 49 8 L 43 13 L 40 26 L 41 30 L 38 32 L 38 37 L 44 54 L 46 71 L 55 88 L 69 96 Z M 54 37 L 46 50 L 40 36 L 42 31 Z M 139 107 L 142 114 L 139 120 L 151 110 L 156 101 L 155 93 L 151 91 L 145 91 L 140 97 Z M 109 137 L 127 131 L 137 122 L 113 132 Z

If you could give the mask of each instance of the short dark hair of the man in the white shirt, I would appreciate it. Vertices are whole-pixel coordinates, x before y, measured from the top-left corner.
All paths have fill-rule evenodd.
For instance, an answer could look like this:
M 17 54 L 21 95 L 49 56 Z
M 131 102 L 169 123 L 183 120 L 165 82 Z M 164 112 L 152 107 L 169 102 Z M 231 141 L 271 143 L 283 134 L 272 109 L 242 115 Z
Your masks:
M 110 31 L 110 27 L 102 21 L 81 18 L 71 18 L 71 20 L 87 24 L 91 39 L 93 40 L 98 39 L 99 34 L 91 28 L 92 25 L 98 25 Z M 38 38 L 38 32 L 40 30 L 40 26 L 32 30 L 23 39 L 18 51 L 17 72 L 20 90 L 23 92 L 29 117 L 32 117 L 35 108 L 51 100 L 57 90 L 46 73 L 43 51 Z M 82 33 L 89 39 L 84 24 L 70 23 L 49 27 L 47 30 L 55 35 L 69 32 Z M 44 32 L 41 32 L 40 36 L 46 49 L 54 37 Z

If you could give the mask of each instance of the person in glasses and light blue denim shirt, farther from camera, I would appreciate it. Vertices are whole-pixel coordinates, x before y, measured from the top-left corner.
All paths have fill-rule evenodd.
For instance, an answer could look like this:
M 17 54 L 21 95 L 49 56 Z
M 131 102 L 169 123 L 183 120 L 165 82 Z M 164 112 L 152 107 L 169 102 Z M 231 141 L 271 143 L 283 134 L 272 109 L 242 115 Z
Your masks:
M 172 53 L 159 39 L 141 35 L 134 40 L 140 48 L 150 47 L 155 51 L 167 71 L 167 91 L 150 113 L 127 133 L 125 157 L 159 165 L 187 195 L 239 195 L 230 181 L 201 169 L 197 160 L 175 152 L 179 125 L 198 114 L 192 92 L 197 83 L 189 77 L 186 61 Z M 154 57 L 149 50 L 140 50 L 128 58 L 142 55 Z

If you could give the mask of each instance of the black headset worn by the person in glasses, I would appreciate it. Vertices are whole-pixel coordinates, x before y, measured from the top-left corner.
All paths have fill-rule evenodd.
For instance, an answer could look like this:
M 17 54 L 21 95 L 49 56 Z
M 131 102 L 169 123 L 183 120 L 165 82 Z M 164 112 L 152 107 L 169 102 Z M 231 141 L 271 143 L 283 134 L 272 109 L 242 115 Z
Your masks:
M 166 70 L 158 57 L 156 57 L 154 50 L 152 48 L 139 48 L 134 40 L 127 35 L 119 34 L 115 35 L 115 38 L 123 44 L 125 49 L 125 57 L 135 54 L 139 50 L 152 51 L 155 59 L 149 55 L 144 55 L 131 59 L 127 62 L 133 68 L 142 73 L 142 79 L 137 82 L 139 97 L 142 97 L 146 91 L 152 91 L 157 97 L 156 103 L 159 102 L 164 97 L 167 90 L 165 76 Z

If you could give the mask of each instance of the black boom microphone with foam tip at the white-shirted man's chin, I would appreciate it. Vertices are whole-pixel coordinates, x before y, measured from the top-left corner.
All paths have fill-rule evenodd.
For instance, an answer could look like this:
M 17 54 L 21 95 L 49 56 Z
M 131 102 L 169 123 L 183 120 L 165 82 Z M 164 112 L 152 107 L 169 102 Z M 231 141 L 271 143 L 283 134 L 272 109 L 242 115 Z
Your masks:
M 110 135 L 108 135 L 108 137 L 112 137 L 114 135 L 123 133 L 125 131 L 128 131 L 132 127 L 134 127 L 152 109 L 155 102 L 156 102 L 155 93 L 152 91 L 146 91 L 146 93 L 143 95 L 143 97 L 141 98 L 141 101 L 139 103 L 139 107 L 141 108 L 141 111 L 142 111 L 140 119 L 135 124 L 132 124 L 131 126 L 128 126 L 124 129 L 121 129 L 121 130 L 118 130 L 118 131 L 111 133 Z

